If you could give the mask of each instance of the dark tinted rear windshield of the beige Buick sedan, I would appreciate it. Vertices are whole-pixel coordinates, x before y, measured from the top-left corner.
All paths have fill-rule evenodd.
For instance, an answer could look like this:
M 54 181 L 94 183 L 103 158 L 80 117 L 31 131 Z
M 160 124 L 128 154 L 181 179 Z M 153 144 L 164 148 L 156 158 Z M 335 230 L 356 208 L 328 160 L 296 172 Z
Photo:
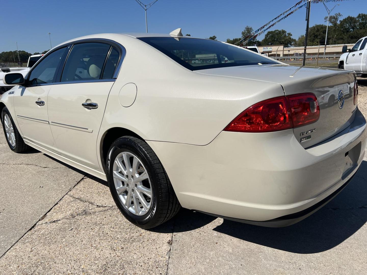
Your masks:
M 215 40 L 176 37 L 138 38 L 189 70 L 279 64 L 243 48 Z

